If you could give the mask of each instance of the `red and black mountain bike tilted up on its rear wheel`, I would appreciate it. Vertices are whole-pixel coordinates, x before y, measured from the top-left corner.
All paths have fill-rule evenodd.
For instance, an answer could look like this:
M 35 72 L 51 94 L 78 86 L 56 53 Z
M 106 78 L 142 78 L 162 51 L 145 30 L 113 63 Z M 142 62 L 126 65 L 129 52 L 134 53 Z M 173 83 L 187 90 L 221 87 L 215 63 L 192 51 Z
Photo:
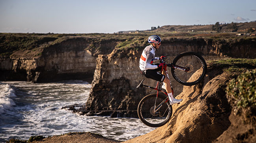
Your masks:
M 176 56 L 172 63 L 170 58 L 161 59 L 160 63 L 164 63 L 161 73 L 165 72 L 166 77 L 170 80 L 167 67 L 171 67 L 173 78 L 182 85 L 196 85 L 205 76 L 207 65 L 202 56 L 195 52 L 183 52 Z M 138 117 L 149 127 L 161 127 L 168 123 L 172 117 L 172 105 L 169 102 L 168 94 L 161 88 L 161 81 L 157 81 L 156 87 L 150 87 L 143 84 L 144 79 L 137 86 L 148 87 L 156 90 L 157 93 L 149 94 L 140 100 L 138 104 Z M 173 88 L 170 82 L 172 94 Z M 161 92 L 164 93 L 160 94 Z M 178 103 L 179 104 L 179 103 Z

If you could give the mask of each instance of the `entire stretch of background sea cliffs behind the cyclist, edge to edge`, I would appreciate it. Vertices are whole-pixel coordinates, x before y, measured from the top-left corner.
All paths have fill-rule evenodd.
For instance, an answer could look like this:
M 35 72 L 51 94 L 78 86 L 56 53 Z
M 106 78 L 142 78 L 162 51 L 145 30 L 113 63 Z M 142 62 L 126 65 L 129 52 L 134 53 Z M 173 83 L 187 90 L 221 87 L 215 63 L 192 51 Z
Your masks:
M 148 45 L 147 37 L 147 35 L 99 34 L 94 37 L 86 35 L 39 38 L 46 39 L 46 42 L 38 42 L 41 44 L 39 46 L 30 44 L 35 48 L 20 48 L 9 57 L 0 58 L 2 73 L 0 80 L 50 82 L 81 80 L 94 75 L 86 107 L 77 112 L 86 114 L 89 111 L 98 113 L 105 110 L 108 115 L 116 112 L 115 110 L 120 110 L 123 114 L 128 111 L 135 112 L 140 99 L 153 92 L 150 89 L 136 89 L 136 85 L 145 78 L 140 74 L 138 62 L 142 50 Z M 171 60 L 184 51 L 198 52 L 206 60 L 228 56 L 256 58 L 254 52 L 256 38 L 161 37 L 163 42 L 156 56 L 170 56 Z M 168 73 L 171 76 L 170 70 Z M 183 86 L 172 77 L 171 81 L 174 96 L 177 96 Z M 144 83 L 154 87 L 156 81 L 145 78 Z M 127 116 L 136 116 L 136 114 Z

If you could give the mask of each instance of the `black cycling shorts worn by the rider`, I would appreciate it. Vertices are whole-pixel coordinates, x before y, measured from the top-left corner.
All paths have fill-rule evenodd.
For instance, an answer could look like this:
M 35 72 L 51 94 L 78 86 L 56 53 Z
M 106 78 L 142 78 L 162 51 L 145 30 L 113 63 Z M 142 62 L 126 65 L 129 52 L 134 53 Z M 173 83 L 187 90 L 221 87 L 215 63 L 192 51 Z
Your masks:
M 153 80 L 157 80 L 157 81 L 164 81 L 165 76 L 161 73 L 159 73 L 158 71 L 161 71 L 160 68 L 158 69 L 148 69 L 145 71 L 142 71 L 142 73 L 146 76 L 146 78 L 151 78 Z

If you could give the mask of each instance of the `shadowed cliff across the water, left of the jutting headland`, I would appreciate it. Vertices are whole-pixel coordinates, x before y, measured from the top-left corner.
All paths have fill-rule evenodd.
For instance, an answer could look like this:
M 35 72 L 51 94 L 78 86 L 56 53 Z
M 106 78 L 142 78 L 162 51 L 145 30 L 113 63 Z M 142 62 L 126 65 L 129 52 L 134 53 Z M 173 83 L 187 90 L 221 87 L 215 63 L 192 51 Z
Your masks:
M 92 77 L 97 55 L 109 54 L 117 43 L 101 40 L 92 47 L 90 41 L 92 38 L 71 36 L 54 44 L 44 43 L 40 47 L 45 47 L 39 50 L 14 51 L 9 57 L 0 58 L 0 80 L 51 82 Z M 104 50 L 94 50 L 95 46 Z

